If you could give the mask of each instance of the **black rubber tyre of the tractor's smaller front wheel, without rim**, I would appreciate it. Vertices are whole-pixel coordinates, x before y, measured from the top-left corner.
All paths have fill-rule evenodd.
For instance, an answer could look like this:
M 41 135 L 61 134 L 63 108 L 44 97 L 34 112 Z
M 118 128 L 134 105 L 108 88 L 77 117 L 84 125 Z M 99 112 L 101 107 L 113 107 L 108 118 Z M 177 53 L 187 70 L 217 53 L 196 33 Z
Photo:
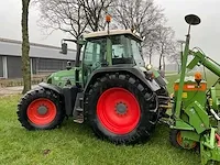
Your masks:
M 37 125 L 33 123 L 28 117 L 29 106 L 36 99 L 48 99 L 56 107 L 55 118 L 48 124 Z M 52 130 L 61 125 L 65 118 L 65 112 L 62 109 L 62 107 L 63 106 L 61 102 L 61 97 L 57 94 L 51 90 L 43 89 L 43 88 L 35 88 L 26 92 L 21 98 L 18 105 L 18 111 L 16 111 L 18 120 L 21 122 L 22 127 L 24 127 L 26 130 Z

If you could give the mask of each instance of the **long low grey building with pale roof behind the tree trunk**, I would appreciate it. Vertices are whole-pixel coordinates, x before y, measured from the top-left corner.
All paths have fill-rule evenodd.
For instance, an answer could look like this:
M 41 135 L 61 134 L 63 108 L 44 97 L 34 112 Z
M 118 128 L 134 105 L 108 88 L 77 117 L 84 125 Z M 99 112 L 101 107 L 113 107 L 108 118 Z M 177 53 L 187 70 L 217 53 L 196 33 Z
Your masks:
M 21 78 L 22 42 L 0 38 L 0 78 Z M 74 65 L 76 51 L 68 50 L 67 55 L 61 54 L 61 47 L 30 44 L 31 72 L 33 75 L 54 73 L 65 69 L 67 62 Z

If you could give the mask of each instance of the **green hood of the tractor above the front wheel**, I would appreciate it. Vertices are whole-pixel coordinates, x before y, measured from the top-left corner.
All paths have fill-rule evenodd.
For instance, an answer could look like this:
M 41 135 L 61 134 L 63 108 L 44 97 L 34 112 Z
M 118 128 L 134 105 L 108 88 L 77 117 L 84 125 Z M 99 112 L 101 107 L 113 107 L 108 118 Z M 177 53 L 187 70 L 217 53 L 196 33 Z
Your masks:
M 73 67 L 72 69 L 65 69 L 65 70 L 59 70 L 57 73 L 53 73 L 52 75 L 50 75 L 46 79 L 47 84 L 53 84 L 59 87 L 64 87 L 67 82 L 67 80 L 70 81 L 70 84 L 74 86 L 76 85 L 75 81 L 75 70 L 76 68 Z M 81 74 L 79 74 L 79 79 L 81 77 Z

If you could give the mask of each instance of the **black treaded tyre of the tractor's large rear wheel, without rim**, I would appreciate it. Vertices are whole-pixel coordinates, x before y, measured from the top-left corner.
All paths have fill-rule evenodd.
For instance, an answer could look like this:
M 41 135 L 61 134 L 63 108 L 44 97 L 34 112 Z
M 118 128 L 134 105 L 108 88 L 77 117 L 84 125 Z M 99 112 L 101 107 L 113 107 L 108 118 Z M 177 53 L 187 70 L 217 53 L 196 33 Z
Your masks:
M 110 88 L 123 88 L 130 91 L 139 102 L 141 117 L 136 127 L 127 134 L 116 134 L 106 129 L 97 117 L 97 102 L 100 96 Z M 116 144 L 134 144 L 146 142 L 155 130 L 158 119 L 156 95 L 141 84 L 139 79 L 125 74 L 111 74 L 97 79 L 86 95 L 86 118 L 94 132 L 100 139 Z

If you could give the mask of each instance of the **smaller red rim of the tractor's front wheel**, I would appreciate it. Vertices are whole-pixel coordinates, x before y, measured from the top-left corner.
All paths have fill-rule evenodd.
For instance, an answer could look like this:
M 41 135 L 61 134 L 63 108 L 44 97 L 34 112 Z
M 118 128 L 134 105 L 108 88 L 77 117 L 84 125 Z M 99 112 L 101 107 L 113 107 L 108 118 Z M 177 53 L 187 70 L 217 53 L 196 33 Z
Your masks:
M 50 124 L 55 117 L 56 106 L 50 99 L 36 99 L 28 108 L 28 118 L 36 125 Z

